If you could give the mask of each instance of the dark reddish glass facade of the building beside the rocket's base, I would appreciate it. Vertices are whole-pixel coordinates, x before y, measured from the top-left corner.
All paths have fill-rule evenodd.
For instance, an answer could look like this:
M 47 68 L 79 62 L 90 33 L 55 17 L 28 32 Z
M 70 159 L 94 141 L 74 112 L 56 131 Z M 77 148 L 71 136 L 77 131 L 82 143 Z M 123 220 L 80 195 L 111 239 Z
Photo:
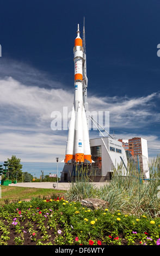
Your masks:
M 91 172 L 93 175 L 101 175 L 102 171 L 102 153 L 101 146 L 91 147 L 91 159 L 95 162 L 92 164 Z

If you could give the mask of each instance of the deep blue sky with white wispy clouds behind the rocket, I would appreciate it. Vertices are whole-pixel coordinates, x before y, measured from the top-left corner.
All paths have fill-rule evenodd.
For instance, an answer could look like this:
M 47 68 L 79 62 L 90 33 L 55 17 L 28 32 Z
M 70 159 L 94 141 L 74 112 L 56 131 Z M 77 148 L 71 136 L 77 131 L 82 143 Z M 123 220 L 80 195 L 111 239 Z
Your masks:
M 77 24 L 87 47 L 90 111 L 109 111 L 115 138 L 147 139 L 160 150 L 159 1 L 1 0 L 1 159 L 21 159 L 36 176 L 63 169 L 67 131 L 51 113 L 71 110 Z M 82 35 L 82 33 L 81 33 Z M 65 117 L 66 118 L 66 117 Z M 90 137 L 99 133 L 90 132 Z

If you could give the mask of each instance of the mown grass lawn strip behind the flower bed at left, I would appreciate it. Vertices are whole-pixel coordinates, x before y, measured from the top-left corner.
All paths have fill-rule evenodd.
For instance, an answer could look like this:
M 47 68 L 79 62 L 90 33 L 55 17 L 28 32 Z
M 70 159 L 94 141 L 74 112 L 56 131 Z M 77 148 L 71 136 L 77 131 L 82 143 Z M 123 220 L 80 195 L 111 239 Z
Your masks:
M 29 200 L 34 197 L 49 198 L 53 194 L 63 196 L 64 190 L 53 190 L 52 188 L 33 188 L 33 187 L 11 187 L 1 186 L 0 206 L 7 202 L 15 202 L 15 200 Z

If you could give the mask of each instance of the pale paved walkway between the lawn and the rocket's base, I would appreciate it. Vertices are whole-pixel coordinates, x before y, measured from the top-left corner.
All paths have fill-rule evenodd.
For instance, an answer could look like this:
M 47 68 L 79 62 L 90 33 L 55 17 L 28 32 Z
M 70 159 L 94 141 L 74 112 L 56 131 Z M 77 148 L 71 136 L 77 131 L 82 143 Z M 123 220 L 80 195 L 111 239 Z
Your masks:
M 70 182 L 18 182 L 17 184 L 9 184 L 9 186 L 14 187 L 36 187 L 36 188 L 53 188 L 53 184 L 56 185 L 55 189 L 57 190 L 68 190 L 71 183 Z M 95 187 L 100 187 L 106 184 L 106 182 L 93 182 Z

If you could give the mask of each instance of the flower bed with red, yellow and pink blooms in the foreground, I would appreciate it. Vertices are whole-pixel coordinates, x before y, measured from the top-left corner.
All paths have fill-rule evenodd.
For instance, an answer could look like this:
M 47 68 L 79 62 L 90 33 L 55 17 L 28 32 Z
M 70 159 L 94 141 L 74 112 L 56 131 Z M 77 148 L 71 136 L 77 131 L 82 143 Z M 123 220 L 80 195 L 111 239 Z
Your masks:
M 35 198 L 0 208 L 0 237 L 0 245 L 160 245 L 160 219 Z

